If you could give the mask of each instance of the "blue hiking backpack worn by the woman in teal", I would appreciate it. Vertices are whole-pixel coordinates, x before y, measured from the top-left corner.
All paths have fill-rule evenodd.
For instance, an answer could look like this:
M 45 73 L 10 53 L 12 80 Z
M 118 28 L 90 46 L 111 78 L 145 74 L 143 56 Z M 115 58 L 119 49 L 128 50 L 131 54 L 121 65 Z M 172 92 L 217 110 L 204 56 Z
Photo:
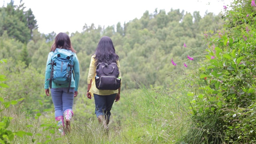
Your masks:
M 50 74 L 50 88 L 52 88 L 52 82 L 58 84 L 68 85 L 68 93 L 72 80 L 73 73 L 73 52 L 71 50 L 56 48 L 52 55 L 51 60 L 51 74 Z M 74 76 L 74 73 L 73 73 Z

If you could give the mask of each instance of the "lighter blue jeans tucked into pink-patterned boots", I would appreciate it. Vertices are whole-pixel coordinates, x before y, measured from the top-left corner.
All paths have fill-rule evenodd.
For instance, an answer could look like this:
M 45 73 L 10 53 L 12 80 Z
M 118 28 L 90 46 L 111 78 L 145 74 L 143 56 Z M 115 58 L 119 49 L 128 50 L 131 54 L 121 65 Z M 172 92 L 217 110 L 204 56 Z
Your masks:
M 64 111 L 73 108 L 75 88 L 51 88 L 55 117 L 63 116 Z

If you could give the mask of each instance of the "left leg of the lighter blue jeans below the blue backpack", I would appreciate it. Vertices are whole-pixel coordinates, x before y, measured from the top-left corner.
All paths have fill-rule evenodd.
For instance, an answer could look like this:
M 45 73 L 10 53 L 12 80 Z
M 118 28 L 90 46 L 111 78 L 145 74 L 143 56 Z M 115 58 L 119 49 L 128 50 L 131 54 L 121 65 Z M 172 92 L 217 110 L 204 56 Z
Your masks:
M 55 110 L 55 117 L 63 116 L 62 111 L 62 88 L 51 88 L 52 102 Z

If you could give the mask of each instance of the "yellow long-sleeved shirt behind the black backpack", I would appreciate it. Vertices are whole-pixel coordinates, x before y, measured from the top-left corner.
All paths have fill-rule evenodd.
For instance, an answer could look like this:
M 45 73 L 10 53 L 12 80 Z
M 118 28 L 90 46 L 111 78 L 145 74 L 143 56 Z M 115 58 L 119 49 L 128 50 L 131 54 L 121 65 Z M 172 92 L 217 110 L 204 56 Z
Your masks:
M 104 95 L 110 95 L 110 94 L 118 93 L 118 89 L 117 90 L 99 90 L 98 88 L 96 88 L 96 85 L 95 85 L 96 66 L 95 66 L 94 57 L 95 57 L 95 55 L 93 55 L 92 58 L 91 58 L 90 68 L 89 68 L 89 73 L 88 73 L 88 78 L 87 78 L 87 84 L 90 84 L 90 81 L 92 80 L 92 86 L 90 88 L 89 93 L 91 94 L 91 96 L 93 96 L 93 94 L 98 94 L 98 95 L 103 95 L 104 96 Z M 120 71 L 119 61 L 117 61 L 116 64 L 117 64 L 118 70 L 119 70 L 119 76 L 118 77 L 122 77 L 121 76 L 121 71 Z M 121 85 L 122 85 L 122 80 L 121 80 Z

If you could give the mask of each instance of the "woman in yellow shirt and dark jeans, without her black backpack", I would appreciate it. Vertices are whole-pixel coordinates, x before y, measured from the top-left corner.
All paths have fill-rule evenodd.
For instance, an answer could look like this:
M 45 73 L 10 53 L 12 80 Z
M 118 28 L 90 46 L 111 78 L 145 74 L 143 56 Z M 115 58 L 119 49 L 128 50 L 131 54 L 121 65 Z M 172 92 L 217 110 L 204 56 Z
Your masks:
M 108 124 L 111 115 L 111 108 L 114 101 L 120 100 L 120 88 L 117 90 L 99 90 L 95 85 L 96 66 L 99 62 L 116 62 L 119 70 L 119 78 L 121 78 L 119 56 L 115 52 L 115 48 L 112 40 L 108 36 L 103 36 L 96 48 L 96 52 L 92 55 L 90 62 L 90 69 L 88 73 L 87 83 L 87 97 L 89 99 L 94 96 L 95 101 L 95 114 L 98 121 L 104 125 L 105 129 L 108 129 Z M 122 81 L 121 81 L 122 84 Z

